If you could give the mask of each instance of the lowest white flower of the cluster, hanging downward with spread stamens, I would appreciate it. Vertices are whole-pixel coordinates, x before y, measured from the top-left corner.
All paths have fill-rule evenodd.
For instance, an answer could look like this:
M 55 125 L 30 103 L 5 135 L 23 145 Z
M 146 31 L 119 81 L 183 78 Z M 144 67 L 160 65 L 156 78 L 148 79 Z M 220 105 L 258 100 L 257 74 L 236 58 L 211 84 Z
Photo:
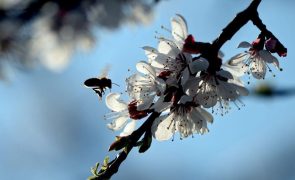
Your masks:
M 194 133 L 208 132 L 207 122 L 213 122 L 212 115 L 200 107 L 192 106 L 191 100 L 189 96 L 182 96 L 170 113 L 155 119 L 151 129 L 155 139 L 168 140 L 175 132 L 179 132 L 181 139 Z

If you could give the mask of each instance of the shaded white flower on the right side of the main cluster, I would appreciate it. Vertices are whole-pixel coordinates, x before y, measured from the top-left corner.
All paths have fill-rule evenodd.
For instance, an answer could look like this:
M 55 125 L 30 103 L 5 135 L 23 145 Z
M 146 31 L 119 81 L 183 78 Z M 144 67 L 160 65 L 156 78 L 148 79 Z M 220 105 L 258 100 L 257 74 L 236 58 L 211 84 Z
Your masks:
M 221 111 L 221 115 L 229 110 L 229 102 L 237 105 L 235 101 L 240 102 L 240 96 L 249 94 L 238 78 L 225 70 L 217 71 L 214 75 L 203 73 L 197 77 L 190 77 L 183 88 L 189 96 L 194 97 L 197 104 L 205 108 L 219 105 L 217 110 Z

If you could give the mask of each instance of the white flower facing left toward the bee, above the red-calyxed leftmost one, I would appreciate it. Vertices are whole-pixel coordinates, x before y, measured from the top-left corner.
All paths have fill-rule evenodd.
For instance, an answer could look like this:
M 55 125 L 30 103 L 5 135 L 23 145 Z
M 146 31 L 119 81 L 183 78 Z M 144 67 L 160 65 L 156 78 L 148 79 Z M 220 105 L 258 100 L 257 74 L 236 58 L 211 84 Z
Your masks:
M 137 63 L 136 68 L 142 74 L 134 74 L 126 79 L 127 92 L 137 101 L 137 109 L 145 110 L 151 106 L 157 95 L 164 93 L 166 84 L 156 76 L 155 70 L 147 62 Z

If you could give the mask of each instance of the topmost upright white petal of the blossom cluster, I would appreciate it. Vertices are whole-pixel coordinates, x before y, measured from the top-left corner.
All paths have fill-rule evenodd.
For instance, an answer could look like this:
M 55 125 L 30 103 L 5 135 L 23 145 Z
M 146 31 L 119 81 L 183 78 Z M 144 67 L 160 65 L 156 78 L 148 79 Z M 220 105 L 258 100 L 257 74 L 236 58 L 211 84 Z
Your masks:
M 181 15 L 177 14 L 174 18 L 172 18 L 171 26 L 172 36 L 174 39 L 177 41 L 184 41 L 188 36 L 185 19 Z

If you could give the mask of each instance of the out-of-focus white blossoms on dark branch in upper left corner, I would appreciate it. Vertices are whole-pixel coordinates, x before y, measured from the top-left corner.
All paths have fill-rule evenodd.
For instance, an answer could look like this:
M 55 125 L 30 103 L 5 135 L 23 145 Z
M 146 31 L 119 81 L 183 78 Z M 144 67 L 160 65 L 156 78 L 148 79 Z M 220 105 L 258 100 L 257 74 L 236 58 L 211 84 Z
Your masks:
M 94 46 L 95 33 L 101 28 L 148 24 L 155 2 L 0 0 L 0 70 L 6 60 L 22 67 L 41 62 L 50 70 L 62 71 L 76 50 Z

